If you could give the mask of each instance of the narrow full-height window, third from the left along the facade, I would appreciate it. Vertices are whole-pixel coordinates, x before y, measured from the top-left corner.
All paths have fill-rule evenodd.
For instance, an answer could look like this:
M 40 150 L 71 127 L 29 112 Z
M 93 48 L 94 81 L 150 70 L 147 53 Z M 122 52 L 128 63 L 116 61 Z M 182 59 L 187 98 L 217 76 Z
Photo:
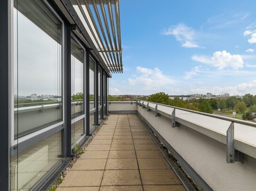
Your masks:
M 96 62 L 90 57 L 90 132 L 95 127 L 95 68 L 96 68 Z

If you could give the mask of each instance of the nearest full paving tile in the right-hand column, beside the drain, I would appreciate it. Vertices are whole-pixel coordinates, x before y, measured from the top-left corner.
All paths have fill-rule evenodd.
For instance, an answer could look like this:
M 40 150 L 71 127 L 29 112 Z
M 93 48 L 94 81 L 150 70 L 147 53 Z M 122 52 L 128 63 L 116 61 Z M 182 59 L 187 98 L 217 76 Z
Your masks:
M 140 176 L 143 185 L 182 184 L 170 169 L 141 169 Z

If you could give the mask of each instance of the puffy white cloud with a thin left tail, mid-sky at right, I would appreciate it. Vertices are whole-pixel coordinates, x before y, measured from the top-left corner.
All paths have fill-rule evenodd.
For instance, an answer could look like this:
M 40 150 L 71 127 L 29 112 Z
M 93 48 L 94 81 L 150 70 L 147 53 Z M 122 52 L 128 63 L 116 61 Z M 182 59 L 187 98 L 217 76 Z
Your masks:
M 231 54 L 227 53 L 225 50 L 217 51 L 213 53 L 213 56 L 211 58 L 207 56 L 199 56 L 199 55 L 193 55 L 192 56 L 193 61 L 198 61 L 205 64 L 210 64 L 213 67 L 217 69 L 224 69 L 227 67 L 231 67 L 233 69 L 239 69 L 243 67 L 244 61 L 239 54 Z

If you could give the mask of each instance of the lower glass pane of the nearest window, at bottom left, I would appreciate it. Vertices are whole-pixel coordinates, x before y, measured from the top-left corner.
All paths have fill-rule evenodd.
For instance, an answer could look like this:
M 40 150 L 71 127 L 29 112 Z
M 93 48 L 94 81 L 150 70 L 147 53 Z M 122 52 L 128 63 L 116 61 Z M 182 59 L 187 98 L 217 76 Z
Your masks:
M 61 131 L 11 158 L 11 189 L 29 191 L 62 158 Z

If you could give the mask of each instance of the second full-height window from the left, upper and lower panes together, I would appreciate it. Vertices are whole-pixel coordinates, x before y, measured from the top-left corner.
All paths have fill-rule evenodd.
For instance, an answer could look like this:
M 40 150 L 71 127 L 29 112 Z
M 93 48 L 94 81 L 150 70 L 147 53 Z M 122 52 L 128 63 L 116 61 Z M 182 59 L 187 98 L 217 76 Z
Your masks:
M 71 115 L 72 148 L 84 134 L 84 63 L 85 50 L 74 37 L 71 38 Z

